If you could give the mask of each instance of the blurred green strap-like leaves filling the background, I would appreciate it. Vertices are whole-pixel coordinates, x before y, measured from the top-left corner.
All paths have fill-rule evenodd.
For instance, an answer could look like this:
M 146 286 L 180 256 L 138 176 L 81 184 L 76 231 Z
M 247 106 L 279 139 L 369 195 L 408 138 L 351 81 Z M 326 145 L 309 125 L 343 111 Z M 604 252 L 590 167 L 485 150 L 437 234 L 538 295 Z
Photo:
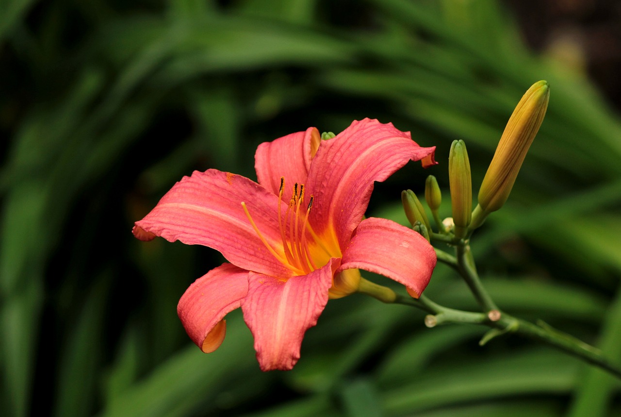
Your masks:
M 369 213 L 405 222 L 399 192 L 429 173 L 447 190 L 455 139 L 478 190 L 545 79 L 542 129 L 473 249 L 501 308 L 620 361 L 621 123 L 581 73 L 529 52 L 501 3 L 7 0 L 0 75 L 2 416 L 621 415 L 619 381 L 576 359 L 478 347 L 483 328 L 426 329 L 358 295 L 329 303 L 291 372 L 260 372 L 238 312 L 201 354 L 176 302 L 220 255 L 130 233 L 194 169 L 253 178 L 260 142 L 363 117 L 437 145 L 440 165 L 376 187 Z M 447 268 L 427 294 L 474 308 Z

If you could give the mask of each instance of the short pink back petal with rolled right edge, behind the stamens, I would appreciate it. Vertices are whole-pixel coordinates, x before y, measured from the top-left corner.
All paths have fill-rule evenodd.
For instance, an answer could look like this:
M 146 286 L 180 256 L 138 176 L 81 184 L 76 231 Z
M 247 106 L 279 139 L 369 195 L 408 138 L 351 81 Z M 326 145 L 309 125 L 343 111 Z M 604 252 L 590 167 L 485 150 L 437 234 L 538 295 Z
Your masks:
M 321 137 L 315 127 L 306 132 L 296 132 L 273 142 L 260 144 L 255 153 L 255 170 L 258 183 L 278 195 L 280 179 L 284 177 L 293 189 L 294 183 L 306 183 L 311 158 L 317 152 Z M 284 199 L 291 198 L 284 193 Z

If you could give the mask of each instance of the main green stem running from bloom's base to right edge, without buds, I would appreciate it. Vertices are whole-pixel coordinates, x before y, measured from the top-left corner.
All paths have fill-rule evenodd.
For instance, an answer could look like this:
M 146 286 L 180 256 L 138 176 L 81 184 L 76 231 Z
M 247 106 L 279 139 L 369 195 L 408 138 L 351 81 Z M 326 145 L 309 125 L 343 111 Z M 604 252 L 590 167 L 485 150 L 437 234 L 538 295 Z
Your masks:
M 418 299 L 398 295 L 391 288 L 370 282 L 365 280 L 365 278 L 360 280 L 358 292 L 373 296 L 384 303 L 402 304 L 419 308 L 429 313 L 425 317 L 425 325 L 430 328 L 445 323 L 483 324 L 489 326 L 492 330 L 484 336 L 482 343 L 501 334 L 518 334 L 556 347 L 556 349 L 560 349 L 578 359 L 584 360 L 584 362 L 595 365 L 621 379 L 621 368 L 607 360 L 599 349 L 576 339 L 576 337 L 553 329 L 543 322 L 538 324 L 529 323 L 509 314 L 501 313 L 497 309 L 492 309 L 486 314 L 447 308 L 434 303 L 424 295 L 421 295 Z

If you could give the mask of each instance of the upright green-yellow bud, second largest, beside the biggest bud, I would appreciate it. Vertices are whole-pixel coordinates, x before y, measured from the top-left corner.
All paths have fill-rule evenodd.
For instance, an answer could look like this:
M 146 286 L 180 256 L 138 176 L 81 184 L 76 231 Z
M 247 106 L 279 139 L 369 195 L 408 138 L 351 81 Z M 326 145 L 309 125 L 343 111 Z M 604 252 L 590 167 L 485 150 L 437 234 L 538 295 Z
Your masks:
M 461 239 L 466 235 L 472 215 L 472 181 L 470 179 L 470 162 L 466 144 L 463 140 L 453 140 L 448 154 L 448 181 L 451 188 L 451 206 L 455 237 Z

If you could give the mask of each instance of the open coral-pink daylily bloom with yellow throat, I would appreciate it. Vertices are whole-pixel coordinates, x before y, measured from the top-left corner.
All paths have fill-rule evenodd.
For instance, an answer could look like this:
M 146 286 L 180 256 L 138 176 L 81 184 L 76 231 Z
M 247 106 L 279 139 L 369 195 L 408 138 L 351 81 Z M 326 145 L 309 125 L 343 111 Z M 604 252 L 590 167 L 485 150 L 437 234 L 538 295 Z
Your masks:
M 407 227 L 364 214 L 374 181 L 409 160 L 433 165 L 434 151 L 376 120 L 355 121 L 329 140 L 311 127 L 259 145 L 258 183 L 218 170 L 184 177 L 133 232 L 143 241 L 205 245 L 229 261 L 179 301 L 179 318 L 203 352 L 220 346 L 224 316 L 241 307 L 261 369 L 289 370 L 329 298 L 357 290 L 359 268 L 413 296 L 427 286 L 432 246 Z

